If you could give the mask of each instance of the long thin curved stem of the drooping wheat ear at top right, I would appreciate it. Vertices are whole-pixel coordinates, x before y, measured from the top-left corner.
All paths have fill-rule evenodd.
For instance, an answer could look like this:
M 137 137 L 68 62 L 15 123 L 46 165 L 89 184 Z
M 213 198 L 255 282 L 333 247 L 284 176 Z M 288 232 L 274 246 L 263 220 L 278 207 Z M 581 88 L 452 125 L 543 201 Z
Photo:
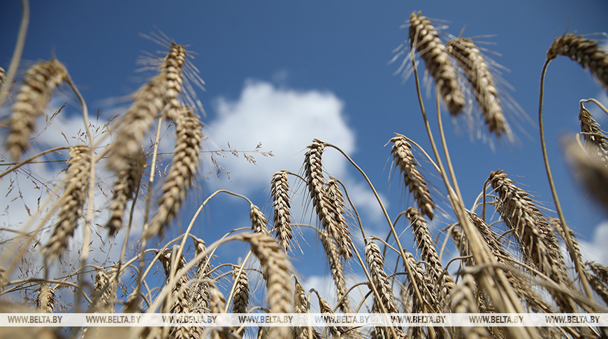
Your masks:
M 583 288 L 585 289 L 585 294 L 589 299 L 593 300 L 593 292 L 591 292 L 591 287 L 589 287 L 589 283 L 587 281 L 586 272 L 584 271 L 584 267 L 579 261 L 579 257 L 577 256 L 577 251 L 574 248 L 574 243 L 572 242 L 572 237 L 570 236 L 570 227 L 566 224 L 566 220 L 564 218 L 564 213 L 562 210 L 562 206 L 560 204 L 557 190 L 555 188 L 555 182 L 553 181 L 553 174 L 551 174 L 551 167 L 549 167 L 549 156 L 547 156 L 547 145 L 544 142 L 544 127 L 542 124 L 542 100 L 544 96 L 544 75 L 547 73 L 547 67 L 549 67 L 550 59 L 544 62 L 542 66 L 542 73 L 540 75 L 540 94 L 538 96 L 538 128 L 540 130 L 540 146 L 542 149 L 542 160 L 544 161 L 544 168 L 547 170 L 547 179 L 549 179 L 549 187 L 551 188 L 551 195 L 553 195 L 553 202 L 555 202 L 556 211 L 558 213 L 560 223 L 562 224 L 562 228 L 564 231 L 564 240 L 566 243 L 566 247 L 568 249 L 568 253 L 570 253 L 570 259 L 574 262 L 574 268 L 579 273 L 579 278 L 581 279 L 581 283 L 583 283 Z

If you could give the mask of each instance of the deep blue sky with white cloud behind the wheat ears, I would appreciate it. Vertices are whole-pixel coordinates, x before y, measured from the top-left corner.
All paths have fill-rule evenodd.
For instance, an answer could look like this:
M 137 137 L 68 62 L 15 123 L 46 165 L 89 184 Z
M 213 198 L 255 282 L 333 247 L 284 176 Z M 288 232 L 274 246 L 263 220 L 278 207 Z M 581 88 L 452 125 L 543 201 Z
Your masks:
M 19 24 L 20 1 L 5 2 L 0 13 L 0 66 L 6 68 Z M 520 142 L 498 142 L 493 150 L 488 142 L 470 140 L 462 130 L 463 121 L 452 124 L 444 114 L 465 204 L 471 206 L 488 174 L 499 168 L 516 176 L 537 199 L 552 204 L 536 122 L 540 71 L 547 48 L 566 31 L 608 31 L 606 1 L 31 1 L 23 59 L 57 56 L 89 110 L 99 109 L 103 120 L 124 105 L 119 98 L 145 82 L 147 75 L 134 72 L 138 56 L 161 50 L 139 33 L 160 29 L 197 53 L 193 63 L 206 82 L 206 90 L 198 97 L 205 106 L 203 121 L 211 137 L 205 147 L 225 148 L 230 142 L 235 149 L 249 150 L 262 142 L 262 149 L 273 151 L 275 157 L 257 156 L 255 167 L 242 158 L 220 159 L 231 172 L 232 182 L 201 180 L 201 188 L 191 193 L 182 209 L 182 227 L 217 188 L 244 193 L 265 207 L 270 217 L 266 206 L 270 175 L 280 169 L 300 171 L 305 147 L 313 137 L 348 151 L 386 199 L 394 218 L 412 199 L 403 193 L 397 176 L 391 179 L 390 146 L 384 144 L 393 133 L 401 133 L 430 151 L 414 81 L 404 83 L 393 75 L 398 62 L 388 63 L 392 50 L 407 38 L 407 29 L 400 25 L 414 10 L 447 20 L 447 33 L 458 35 L 464 29 L 463 36 L 493 35 L 482 40 L 496 43 L 488 48 L 502 56 L 492 58 L 511 70 L 502 77 L 514 87 L 509 93 L 532 121 L 507 116 Z M 572 183 L 559 142 L 561 135 L 579 130 L 579 100 L 591 97 L 607 103 L 605 91 L 577 63 L 564 57 L 551 62 L 544 116 L 558 193 L 571 227 L 607 264 L 608 254 L 598 254 L 601 246 L 594 247 L 608 241 L 608 225 L 598 228 L 607 215 Z M 433 97 L 425 96 L 425 100 L 434 112 Z M 78 119 L 78 107 L 68 106 L 66 114 Z M 596 117 L 608 124 L 605 115 L 596 113 Z M 518 124 L 521 128 L 516 128 Z M 455 133 L 455 129 L 461 131 Z M 356 195 L 365 227 L 384 238 L 386 225 L 378 218 L 377 204 L 361 177 L 337 152 L 325 154 L 330 173 Z M 210 163 L 204 165 L 212 170 Z M 428 164 L 425 167 L 428 175 L 435 175 Z M 438 195 L 443 191 L 437 199 L 442 199 Z M 442 201 L 446 206 L 446 199 Z M 306 209 L 298 207 L 298 211 Z M 310 223 L 310 208 L 307 212 L 303 220 Z M 220 197 L 203 213 L 197 235 L 215 240 L 224 231 L 246 226 L 247 218 L 247 204 Z M 442 220 L 437 227 L 453 221 Z M 405 243 L 407 248 L 412 246 Z M 318 252 L 319 246 L 313 244 L 312 251 Z M 306 276 L 327 272 L 303 264 L 302 258 L 297 260 L 298 270 Z

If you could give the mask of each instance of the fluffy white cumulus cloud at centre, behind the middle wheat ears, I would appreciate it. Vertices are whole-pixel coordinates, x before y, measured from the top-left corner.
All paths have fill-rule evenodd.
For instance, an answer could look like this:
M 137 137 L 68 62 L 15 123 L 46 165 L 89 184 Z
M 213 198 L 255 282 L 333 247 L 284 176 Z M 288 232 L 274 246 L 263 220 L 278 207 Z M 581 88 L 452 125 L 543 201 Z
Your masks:
M 268 188 L 272 175 L 281 169 L 301 172 L 306 146 L 314 138 L 353 153 L 356 135 L 348 125 L 344 107 L 342 100 L 328 91 L 298 91 L 254 80 L 245 82 L 236 100 L 217 98 L 217 117 L 208 123 L 208 149 L 226 149 L 230 144 L 232 149 L 246 151 L 261 143 L 264 151 L 272 151 L 275 156 L 257 155 L 256 165 L 242 157 L 221 158 L 231 181 L 210 180 L 210 185 L 244 194 Z M 326 150 L 323 163 L 328 173 L 357 192 L 355 204 L 361 204 L 371 216 L 379 216 L 375 198 L 359 178 L 349 174 L 343 156 Z

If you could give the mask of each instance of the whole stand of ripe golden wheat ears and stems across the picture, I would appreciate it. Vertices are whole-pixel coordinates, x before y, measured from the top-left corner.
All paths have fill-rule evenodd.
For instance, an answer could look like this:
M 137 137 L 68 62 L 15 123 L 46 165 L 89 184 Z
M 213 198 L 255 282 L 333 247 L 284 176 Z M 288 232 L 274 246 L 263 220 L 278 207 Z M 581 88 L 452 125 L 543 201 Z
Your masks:
M 20 190 L 20 179 L 38 177 L 36 167 L 29 165 L 54 161 L 64 168 L 40 183 L 44 189 L 37 206 L 29 210 L 27 222 L 1 231 L 1 312 L 607 313 L 608 267 L 589 262 L 581 254 L 576 229 L 563 216 L 555 188 L 559 183 L 553 182 L 549 167 L 542 107 L 550 61 L 571 59 L 608 91 L 608 53 L 597 40 L 575 33 L 547 42 L 547 59 L 539 70 L 538 132 L 553 200 L 537 202 L 497 163 L 493 172 L 478 178 L 484 190 L 475 202 L 469 202 L 458 186 L 448 151 L 451 141 L 445 136 L 442 119 L 477 114 L 475 119 L 483 121 L 484 133 L 509 142 L 514 139 L 505 114 L 509 98 L 498 88 L 484 48 L 474 38 L 441 31 L 420 12 L 411 14 L 406 28 L 407 38 L 396 51 L 395 61 L 400 62 L 399 71 L 411 73 L 409 81 L 415 83 L 419 99 L 417 110 L 424 119 L 421 128 L 426 129 L 431 147 L 423 149 L 407 135 L 387 132 L 393 176 L 411 202 L 396 215 L 389 215 L 376 191 L 377 183 L 368 179 L 340 144 L 317 139 L 302 145 L 306 151 L 299 171 L 277 168 L 268 178 L 266 213 L 264 206 L 230 190 L 193 198 L 201 194 L 196 184 L 197 176 L 208 170 L 203 167 L 217 166 L 221 172 L 222 159 L 212 164 L 203 161 L 207 136 L 198 98 L 190 90 L 192 83 L 203 81 L 187 42 L 180 45 L 161 33 L 155 36 L 164 55 L 150 61 L 154 76 L 132 93 L 120 116 L 100 123 L 99 116 L 93 122 L 85 98 L 60 60 L 39 61 L 15 75 L 24 47 L 17 38 L 15 57 L 10 65 L 2 65 L 6 70 L 0 68 L 0 107 L 6 116 L 0 179 L 14 182 L 14 189 Z M 431 99 L 421 94 L 422 73 L 430 79 Z M 61 109 L 50 116 L 45 110 L 57 89 L 69 91 L 78 101 L 82 133 L 74 138 L 76 145 L 38 151 L 37 132 L 61 114 Z M 581 100 L 581 132 L 565 138 L 563 149 L 581 187 L 597 200 L 598 208 L 608 210 L 608 141 L 591 114 L 592 106 L 608 114 L 598 100 Z M 174 142 L 169 153 L 159 151 L 164 137 Z M 255 162 L 251 154 L 243 154 Z M 349 186 L 326 170 L 328 156 L 346 158 L 361 174 L 361 182 L 382 209 L 386 233 L 367 232 Z M 443 186 L 432 187 L 428 176 L 439 178 Z M 304 218 L 307 224 L 294 215 L 295 193 L 305 197 L 305 211 L 310 214 Z M 203 239 L 196 227 L 200 213 L 219 195 L 245 202 L 250 225 L 226 229 L 219 239 Z M 189 199 L 201 201 L 198 210 L 183 208 Z M 546 204 L 551 205 L 549 209 Z M 235 209 L 234 213 L 243 211 Z M 440 229 L 437 219 L 446 220 L 445 215 L 455 221 Z M 402 223 L 406 220 L 405 229 L 398 226 L 400 219 Z M 178 236 L 167 239 L 167 234 L 175 234 L 175 228 L 171 229 L 175 220 L 189 222 Z M 411 232 L 414 243 L 405 243 L 405 232 Z M 126 235 L 117 238 L 118 246 L 108 241 L 105 248 L 91 248 L 95 234 L 108 239 Z M 70 250 L 75 243 L 78 248 Z M 247 248 L 237 262 L 217 254 L 235 243 Z M 292 260 L 298 250 L 310 250 L 301 243 L 314 244 L 312 250 L 319 248 L 335 295 L 303 287 L 306 277 L 298 273 Z M 444 260 L 447 247 L 455 250 L 449 262 Z M 92 259 L 92 251 L 120 252 L 120 260 L 99 264 Z M 112 335 L 605 338 L 608 332 L 584 325 L 13 327 L 0 331 L 2 338 Z

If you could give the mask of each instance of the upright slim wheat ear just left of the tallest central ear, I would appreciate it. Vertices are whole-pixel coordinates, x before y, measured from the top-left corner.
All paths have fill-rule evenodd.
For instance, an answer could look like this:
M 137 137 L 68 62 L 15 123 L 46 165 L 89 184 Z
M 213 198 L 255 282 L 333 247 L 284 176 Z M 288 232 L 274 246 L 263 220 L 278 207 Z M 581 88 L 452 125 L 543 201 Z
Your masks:
M 279 243 L 283 250 L 289 250 L 291 240 L 291 208 L 289 204 L 289 181 L 287 181 L 287 171 L 279 171 L 273 175 L 270 183 L 270 195 L 273 197 L 273 223 Z

